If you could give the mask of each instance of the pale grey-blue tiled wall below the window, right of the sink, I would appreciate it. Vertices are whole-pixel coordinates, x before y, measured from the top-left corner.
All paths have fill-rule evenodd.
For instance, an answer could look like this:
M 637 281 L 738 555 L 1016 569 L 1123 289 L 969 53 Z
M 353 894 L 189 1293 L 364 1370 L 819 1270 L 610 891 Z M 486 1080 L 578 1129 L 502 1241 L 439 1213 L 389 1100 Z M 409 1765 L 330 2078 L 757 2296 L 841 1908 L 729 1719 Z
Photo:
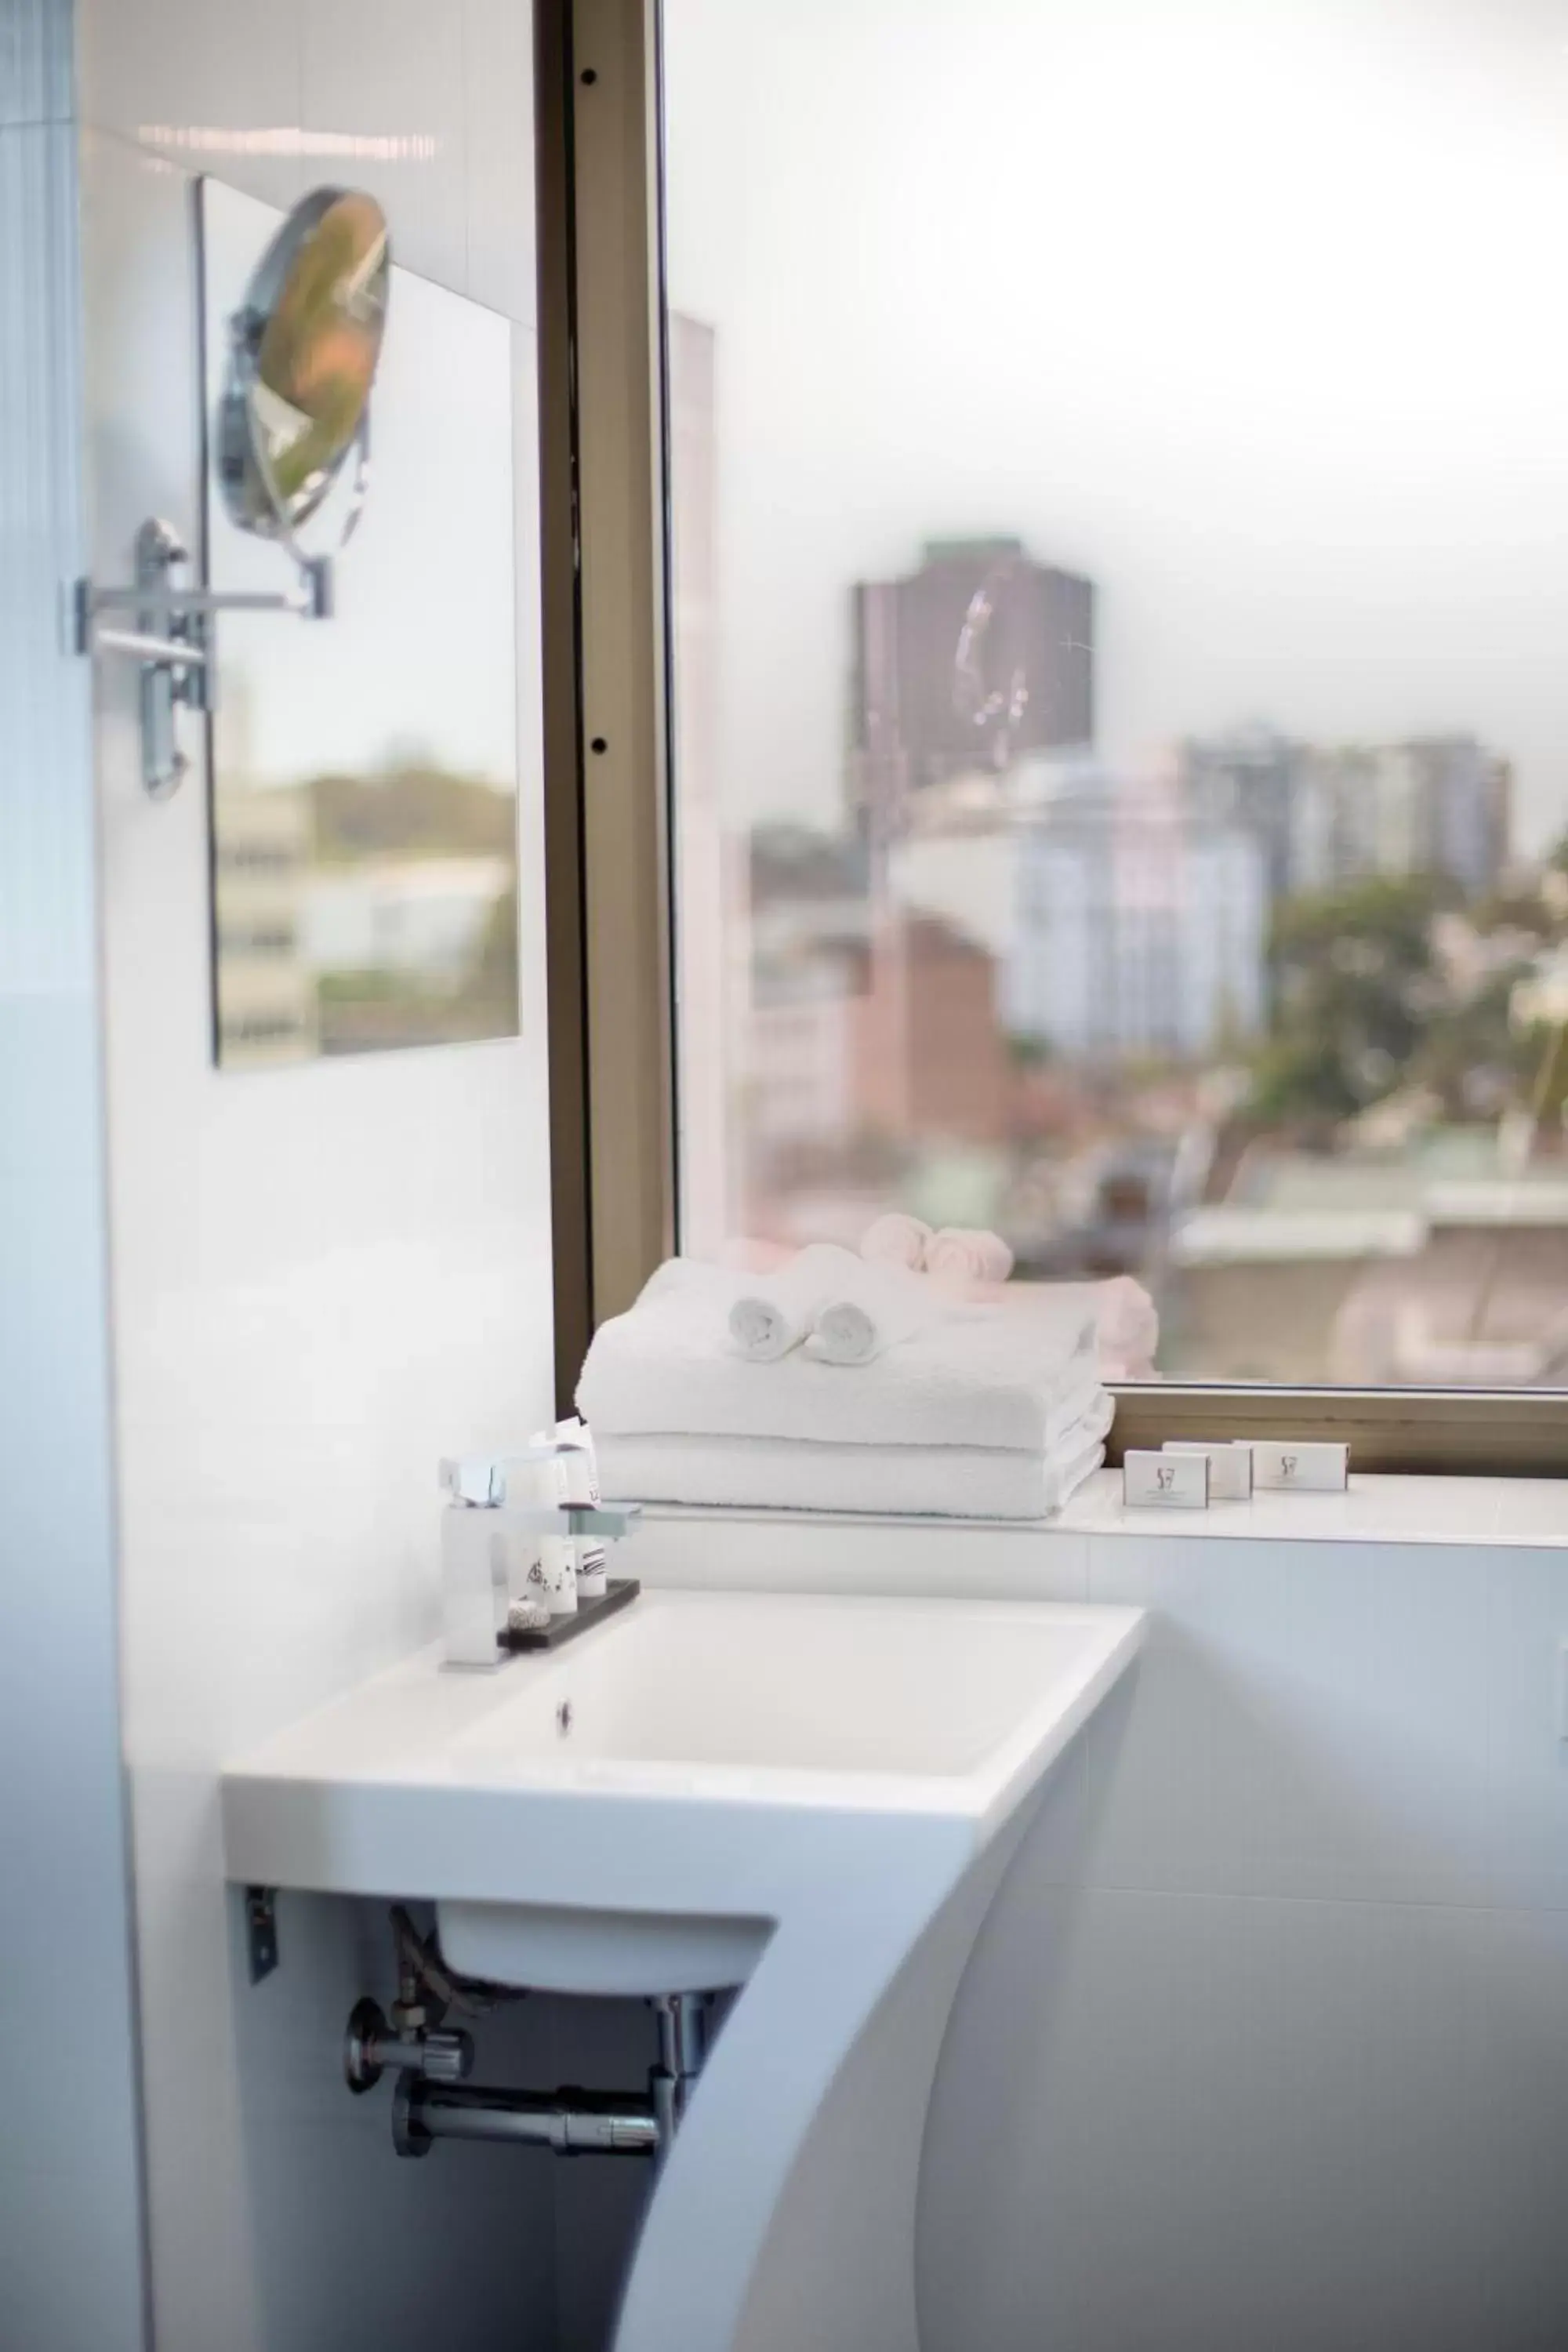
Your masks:
M 985 1924 L 926 2352 L 1568 2343 L 1561 1550 L 1095 1534 L 1154 1625 Z

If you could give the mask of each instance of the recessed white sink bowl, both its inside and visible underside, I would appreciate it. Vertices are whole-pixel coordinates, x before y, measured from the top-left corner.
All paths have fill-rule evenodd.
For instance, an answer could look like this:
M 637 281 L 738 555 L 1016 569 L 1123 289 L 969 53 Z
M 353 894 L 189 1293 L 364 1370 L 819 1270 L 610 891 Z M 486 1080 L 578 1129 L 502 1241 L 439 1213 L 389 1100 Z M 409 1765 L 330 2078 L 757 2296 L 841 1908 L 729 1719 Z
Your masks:
M 651 1592 L 454 1743 L 487 1776 L 689 1809 L 992 1818 L 1103 1663 L 1110 1611 Z M 1067 1726 L 1070 1729 L 1070 1726 Z M 1060 1740 L 1056 1743 L 1060 1745 Z M 757 1825 L 755 1835 L 766 1835 Z M 743 1983 L 769 1922 L 449 1900 L 451 1966 L 562 1992 Z

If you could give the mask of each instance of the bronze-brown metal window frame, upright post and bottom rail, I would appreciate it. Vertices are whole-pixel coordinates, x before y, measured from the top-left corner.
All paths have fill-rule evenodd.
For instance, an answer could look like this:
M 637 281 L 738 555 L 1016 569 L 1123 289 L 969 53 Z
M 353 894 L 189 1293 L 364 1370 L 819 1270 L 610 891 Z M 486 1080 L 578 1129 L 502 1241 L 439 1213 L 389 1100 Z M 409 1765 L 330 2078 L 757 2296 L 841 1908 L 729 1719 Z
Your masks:
M 677 1247 L 658 0 L 536 0 L 557 1388 Z M 595 746 L 604 746 L 602 750 Z M 1110 1461 L 1328 1437 L 1359 1470 L 1568 1472 L 1568 1390 L 1114 1388 Z

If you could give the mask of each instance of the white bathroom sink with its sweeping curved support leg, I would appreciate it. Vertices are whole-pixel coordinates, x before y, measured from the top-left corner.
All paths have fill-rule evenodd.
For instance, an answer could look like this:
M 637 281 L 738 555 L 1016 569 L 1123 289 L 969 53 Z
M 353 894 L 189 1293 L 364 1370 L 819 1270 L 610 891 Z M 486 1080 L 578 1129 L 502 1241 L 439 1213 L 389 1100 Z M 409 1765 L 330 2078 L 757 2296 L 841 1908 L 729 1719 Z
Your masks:
M 1058 1602 L 644 1590 L 496 1675 L 425 1651 L 240 1757 L 228 1875 L 430 1900 L 447 1962 L 498 1983 L 741 1987 L 616 2352 L 893 2352 L 919 2340 L 952 1994 L 1032 1795 L 1140 1632 Z

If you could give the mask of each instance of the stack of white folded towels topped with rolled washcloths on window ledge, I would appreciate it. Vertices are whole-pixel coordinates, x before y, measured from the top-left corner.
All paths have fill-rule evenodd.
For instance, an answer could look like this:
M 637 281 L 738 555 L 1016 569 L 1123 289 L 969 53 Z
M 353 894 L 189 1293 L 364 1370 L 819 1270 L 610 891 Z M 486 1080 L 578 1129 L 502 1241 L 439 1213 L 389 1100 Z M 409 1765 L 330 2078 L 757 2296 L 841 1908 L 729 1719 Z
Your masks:
M 1112 1421 L 1093 1287 L 1013 1315 L 830 1247 L 764 1277 L 672 1258 L 578 1406 L 607 1496 L 964 1519 L 1058 1510 Z

